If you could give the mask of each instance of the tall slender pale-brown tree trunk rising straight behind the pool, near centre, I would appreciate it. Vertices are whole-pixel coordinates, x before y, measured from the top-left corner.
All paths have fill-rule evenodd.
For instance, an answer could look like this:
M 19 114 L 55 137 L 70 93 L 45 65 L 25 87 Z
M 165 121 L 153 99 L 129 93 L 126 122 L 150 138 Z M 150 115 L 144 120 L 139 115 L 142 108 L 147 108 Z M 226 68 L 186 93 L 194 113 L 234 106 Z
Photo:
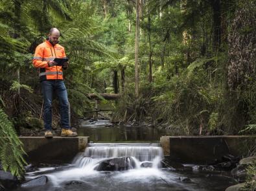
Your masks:
M 135 96 L 139 98 L 139 0 L 136 0 L 135 28 Z

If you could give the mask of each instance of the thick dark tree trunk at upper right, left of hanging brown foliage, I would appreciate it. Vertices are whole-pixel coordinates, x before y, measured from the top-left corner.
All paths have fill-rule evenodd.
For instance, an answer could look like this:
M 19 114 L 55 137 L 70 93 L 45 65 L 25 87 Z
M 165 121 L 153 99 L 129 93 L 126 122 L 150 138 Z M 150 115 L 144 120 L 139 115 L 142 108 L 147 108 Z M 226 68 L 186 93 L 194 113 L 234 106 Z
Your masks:
M 212 0 L 211 6 L 213 8 L 213 51 L 218 51 L 221 44 L 221 10 L 220 0 Z

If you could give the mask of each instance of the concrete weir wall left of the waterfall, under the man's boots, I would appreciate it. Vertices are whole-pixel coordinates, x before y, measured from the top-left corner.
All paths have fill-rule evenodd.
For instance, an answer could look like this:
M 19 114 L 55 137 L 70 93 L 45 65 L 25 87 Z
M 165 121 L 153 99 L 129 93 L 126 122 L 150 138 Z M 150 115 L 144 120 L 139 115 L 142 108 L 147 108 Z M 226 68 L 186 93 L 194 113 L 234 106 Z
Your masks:
M 69 163 L 87 146 L 88 137 L 19 137 L 29 163 Z

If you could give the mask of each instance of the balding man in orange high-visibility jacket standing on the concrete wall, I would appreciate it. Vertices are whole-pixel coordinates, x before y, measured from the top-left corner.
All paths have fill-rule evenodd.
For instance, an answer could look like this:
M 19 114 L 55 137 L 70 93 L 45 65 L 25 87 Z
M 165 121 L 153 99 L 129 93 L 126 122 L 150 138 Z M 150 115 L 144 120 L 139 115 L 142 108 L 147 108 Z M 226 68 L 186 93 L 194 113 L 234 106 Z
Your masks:
M 41 89 L 43 92 L 43 122 L 45 126 L 45 137 L 52 137 L 52 94 L 56 93 L 60 104 L 61 136 L 75 137 L 77 133 L 71 131 L 69 126 L 69 101 L 67 89 L 64 84 L 62 68 L 67 69 L 69 63 L 58 66 L 53 62 L 54 58 L 66 58 L 64 47 L 58 44 L 60 31 L 51 28 L 49 36 L 44 43 L 36 47 L 33 65 L 39 68 Z

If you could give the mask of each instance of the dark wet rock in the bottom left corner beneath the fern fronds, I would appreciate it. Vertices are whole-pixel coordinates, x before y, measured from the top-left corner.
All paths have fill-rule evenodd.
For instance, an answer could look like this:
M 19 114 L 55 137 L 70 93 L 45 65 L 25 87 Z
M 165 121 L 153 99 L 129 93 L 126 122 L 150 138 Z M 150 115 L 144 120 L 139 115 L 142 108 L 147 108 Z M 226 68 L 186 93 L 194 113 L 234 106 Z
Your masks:
M 19 180 L 16 176 L 12 175 L 10 172 L 5 172 L 0 170 L 0 183 L 6 189 L 16 188 L 19 185 Z

